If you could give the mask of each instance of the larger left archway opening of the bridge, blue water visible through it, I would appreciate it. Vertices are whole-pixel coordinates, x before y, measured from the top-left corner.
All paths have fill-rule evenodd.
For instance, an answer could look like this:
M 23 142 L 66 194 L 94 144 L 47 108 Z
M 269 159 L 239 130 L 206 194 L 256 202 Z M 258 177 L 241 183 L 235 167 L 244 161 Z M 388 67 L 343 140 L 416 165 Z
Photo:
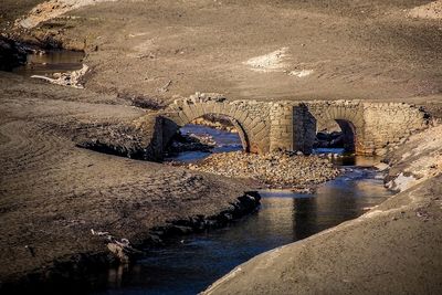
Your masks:
M 241 126 L 232 118 L 208 114 L 181 126 L 166 145 L 169 161 L 192 162 L 211 154 L 248 150 Z

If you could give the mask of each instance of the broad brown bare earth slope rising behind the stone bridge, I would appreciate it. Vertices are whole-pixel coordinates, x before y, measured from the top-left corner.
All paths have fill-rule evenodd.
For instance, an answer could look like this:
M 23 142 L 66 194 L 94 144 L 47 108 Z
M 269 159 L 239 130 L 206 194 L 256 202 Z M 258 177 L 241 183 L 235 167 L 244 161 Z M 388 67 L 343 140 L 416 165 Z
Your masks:
M 10 2 L 3 14 L 25 14 Z M 17 38 L 85 49 L 86 87 L 97 92 L 166 101 L 196 91 L 260 99 L 440 99 L 441 20 L 409 17 L 430 2 L 120 0 L 69 11 Z M 278 50 L 276 64 L 264 65 L 271 71 L 245 64 Z M 298 77 L 303 70 L 313 72 Z

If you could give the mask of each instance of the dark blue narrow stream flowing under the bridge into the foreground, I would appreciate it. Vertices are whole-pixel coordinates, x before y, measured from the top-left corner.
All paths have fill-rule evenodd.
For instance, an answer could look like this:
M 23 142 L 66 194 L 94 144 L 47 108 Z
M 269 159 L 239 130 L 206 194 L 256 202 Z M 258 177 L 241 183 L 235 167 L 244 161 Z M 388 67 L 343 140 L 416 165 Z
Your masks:
M 222 141 L 220 148 L 241 149 L 238 136 L 232 140 L 234 136 L 229 133 L 201 126 L 190 126 L 186 131 L 210 134 L 217 143 Z M 190 161 L 208 156 L 185 154 L 176 159 Z M 96 294 L 197 294 L 262 252 L 359 217 L 390 193 L 376 170 L 369 168 L 372 159 L 351 161 L 366 167 L 349 166 L 349 172 L 328 181 L 314 194 L 261 191 L 262 206 L 256 213 L 221 230 L 179 238 L 152 250 L 149 257 L 129 268 L 110 270 L 106 291 Z

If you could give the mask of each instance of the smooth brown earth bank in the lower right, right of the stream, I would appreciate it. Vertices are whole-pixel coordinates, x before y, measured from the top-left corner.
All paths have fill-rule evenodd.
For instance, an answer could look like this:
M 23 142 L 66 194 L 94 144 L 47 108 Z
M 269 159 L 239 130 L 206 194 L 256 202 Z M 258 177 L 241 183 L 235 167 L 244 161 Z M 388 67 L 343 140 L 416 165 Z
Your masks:
M 399 193 L 239 265 L 203 294 L 440 294 L 441 135 L 442 126 L 433 127 L 390 154 L 388 179 Z

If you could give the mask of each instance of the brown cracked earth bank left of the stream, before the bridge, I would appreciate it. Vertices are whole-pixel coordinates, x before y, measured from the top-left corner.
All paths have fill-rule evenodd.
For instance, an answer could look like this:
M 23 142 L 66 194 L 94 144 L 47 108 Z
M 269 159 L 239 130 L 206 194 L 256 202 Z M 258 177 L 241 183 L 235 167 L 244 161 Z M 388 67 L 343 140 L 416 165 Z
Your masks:
M 106 264 L 107 242 L 92 229 L 140 245 L 154 226 L 217 215 L 248 190 L 232 179 L 75 146 L 81 135 L 130 126 L 141 108 L 1 72 L 0 81 L 0 288 L 33 282 L 33 273 L 56 277 L 61 265 L 72 270 L 82 259 L 101 255 Z

